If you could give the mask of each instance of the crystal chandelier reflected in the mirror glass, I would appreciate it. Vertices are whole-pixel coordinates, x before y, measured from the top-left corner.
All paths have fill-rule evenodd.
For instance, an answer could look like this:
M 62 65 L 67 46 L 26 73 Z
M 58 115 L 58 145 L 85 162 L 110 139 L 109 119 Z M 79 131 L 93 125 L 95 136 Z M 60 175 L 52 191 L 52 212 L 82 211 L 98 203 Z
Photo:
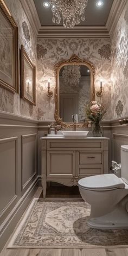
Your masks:
M 62 78 L 66 85 L 76 87 L 79 85 L 81 74 L 79 65 L 64 66 L 62 71 Z

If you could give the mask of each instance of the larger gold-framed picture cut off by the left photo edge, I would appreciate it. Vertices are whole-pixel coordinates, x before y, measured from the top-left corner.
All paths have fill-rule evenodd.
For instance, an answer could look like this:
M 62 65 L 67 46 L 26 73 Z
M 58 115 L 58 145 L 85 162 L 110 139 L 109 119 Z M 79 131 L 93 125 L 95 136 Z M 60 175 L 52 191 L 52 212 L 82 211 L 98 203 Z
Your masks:
M 18 27 L 0 0 L 0 86 L 18 93 Z

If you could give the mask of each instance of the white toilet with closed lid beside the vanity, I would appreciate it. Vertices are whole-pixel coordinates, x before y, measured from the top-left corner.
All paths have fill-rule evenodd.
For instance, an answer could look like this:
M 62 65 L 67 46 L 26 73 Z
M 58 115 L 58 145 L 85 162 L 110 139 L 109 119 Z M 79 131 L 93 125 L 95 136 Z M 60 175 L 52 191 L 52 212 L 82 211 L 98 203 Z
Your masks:
M 97 229 L 128 228 L 128 145 L 121 146 L 121 178 L 101 174 L 81 178 L 82 199 L 91 205 L 87 225 Z

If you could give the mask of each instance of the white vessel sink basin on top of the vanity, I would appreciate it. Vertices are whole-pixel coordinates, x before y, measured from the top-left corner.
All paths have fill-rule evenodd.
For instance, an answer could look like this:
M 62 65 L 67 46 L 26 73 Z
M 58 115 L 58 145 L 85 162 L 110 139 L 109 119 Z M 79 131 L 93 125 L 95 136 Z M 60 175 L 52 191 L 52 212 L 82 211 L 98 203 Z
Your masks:
M 62 131 L 64 137 L 84 138 L 87 137 L 89 131 Z

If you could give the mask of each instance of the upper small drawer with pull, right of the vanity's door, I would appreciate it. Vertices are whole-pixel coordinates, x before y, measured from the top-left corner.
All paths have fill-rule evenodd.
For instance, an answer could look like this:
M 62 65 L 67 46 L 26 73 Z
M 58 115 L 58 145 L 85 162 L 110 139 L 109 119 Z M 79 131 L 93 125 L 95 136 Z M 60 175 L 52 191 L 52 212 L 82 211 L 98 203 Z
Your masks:
M 102 163 L 102 153 L 80 152 L 79 154 L 79 164 L 101 164 L 101 163 Z

